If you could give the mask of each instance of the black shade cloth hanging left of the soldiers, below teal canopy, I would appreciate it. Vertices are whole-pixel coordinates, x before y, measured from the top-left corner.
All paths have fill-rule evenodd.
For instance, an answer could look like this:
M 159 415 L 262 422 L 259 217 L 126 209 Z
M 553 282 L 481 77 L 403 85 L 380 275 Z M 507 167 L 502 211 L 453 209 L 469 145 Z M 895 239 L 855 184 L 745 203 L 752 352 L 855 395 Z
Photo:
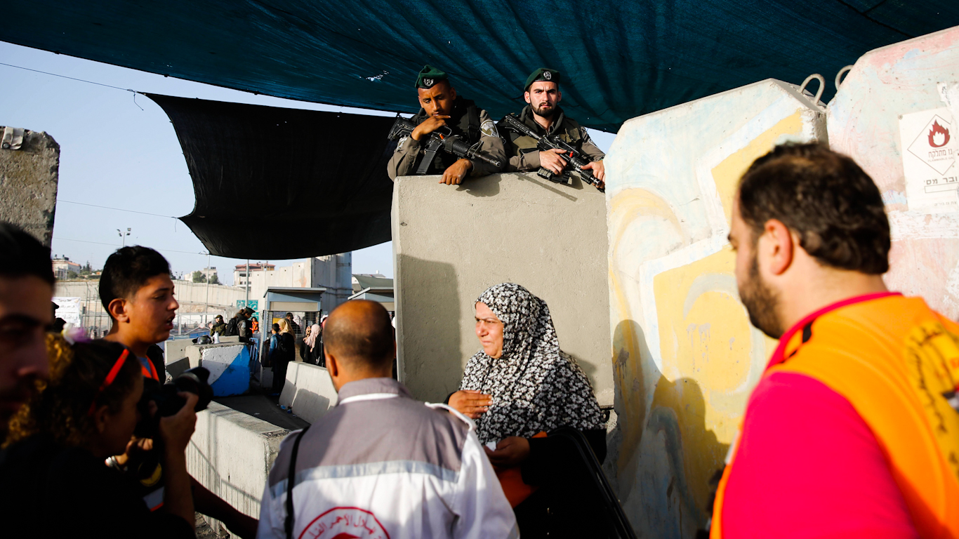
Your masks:
M 390 239 L 393 118 L 148 94 L 183 148 L 211 254 L 286 259 Z

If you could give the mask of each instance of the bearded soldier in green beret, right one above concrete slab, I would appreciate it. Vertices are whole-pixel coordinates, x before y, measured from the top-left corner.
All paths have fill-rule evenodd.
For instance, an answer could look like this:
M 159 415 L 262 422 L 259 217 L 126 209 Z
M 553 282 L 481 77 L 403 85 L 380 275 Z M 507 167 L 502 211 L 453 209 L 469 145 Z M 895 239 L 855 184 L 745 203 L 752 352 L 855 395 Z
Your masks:
M 541 67 L 529 74 L 523 94 L 529 105 L 520 113 L 520 120 L 536 134 L 558 136 L 589 155 L 593 162 L 583 168 L 592 170 L 599 181 L 604 181 L 606 169 L 602 159 L 606 156 L 605 153 L 593 143 L 586 128 L 567 116 L 559 106 L 559 102 L 563 101 L 563 92 L 559 90 L 561 78 L 559 71 L 548 67 Z M 566 159 L 560 156 L 561 150 L 540 152 L 536 149 L 536 141 L 531 137 L 509 129 L 503 130 L 509 134 L 506 144 L 506 155 L 509 157 L 507 172 L 537 171 L 540 168 L 557 175 L 563 172 Z

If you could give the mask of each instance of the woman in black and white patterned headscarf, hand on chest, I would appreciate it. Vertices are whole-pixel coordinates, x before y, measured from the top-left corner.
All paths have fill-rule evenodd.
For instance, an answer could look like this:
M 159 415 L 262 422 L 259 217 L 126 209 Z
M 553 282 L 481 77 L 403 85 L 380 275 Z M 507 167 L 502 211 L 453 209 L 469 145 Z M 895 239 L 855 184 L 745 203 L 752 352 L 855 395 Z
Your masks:
M 502 283 L 480 294 L 475 307 L 482 349 L 466 363 L 448 402 L 477 421 L 480 442 L 496 448 L 485 451 L 524 537 L 588 534 L 580 529 L 588 519 L 565 510 L 572 497 L 557 473 L 566 467 L 563 442 L 547 434 L 572 427 L 603 461 L 606 426 L 593 387 L 560 349 L 545 301 Z

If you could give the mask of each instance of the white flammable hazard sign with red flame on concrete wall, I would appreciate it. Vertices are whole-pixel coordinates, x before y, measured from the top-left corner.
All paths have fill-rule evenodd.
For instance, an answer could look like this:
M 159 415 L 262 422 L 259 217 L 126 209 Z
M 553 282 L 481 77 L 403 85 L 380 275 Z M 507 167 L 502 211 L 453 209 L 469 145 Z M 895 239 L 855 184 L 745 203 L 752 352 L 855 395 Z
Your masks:
M 900 116 L 902 171 L 909 209 L 959 211 L 959 126 L 948 108 Z

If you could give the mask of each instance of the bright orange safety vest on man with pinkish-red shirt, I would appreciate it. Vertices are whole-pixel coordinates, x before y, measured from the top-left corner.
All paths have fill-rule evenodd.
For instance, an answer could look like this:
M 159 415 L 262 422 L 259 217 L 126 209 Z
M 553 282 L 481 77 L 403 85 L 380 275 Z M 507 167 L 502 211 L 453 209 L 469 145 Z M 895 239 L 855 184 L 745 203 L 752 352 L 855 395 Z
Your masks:
M 786 332 L 763 376 L 777 371 L 845 397 L 876 436 L 920 536 L 959 538 L 959 325 L 919 297 L 850 298 Z M 711 539 L 722 537 L 736 447 L 716 492 Z

